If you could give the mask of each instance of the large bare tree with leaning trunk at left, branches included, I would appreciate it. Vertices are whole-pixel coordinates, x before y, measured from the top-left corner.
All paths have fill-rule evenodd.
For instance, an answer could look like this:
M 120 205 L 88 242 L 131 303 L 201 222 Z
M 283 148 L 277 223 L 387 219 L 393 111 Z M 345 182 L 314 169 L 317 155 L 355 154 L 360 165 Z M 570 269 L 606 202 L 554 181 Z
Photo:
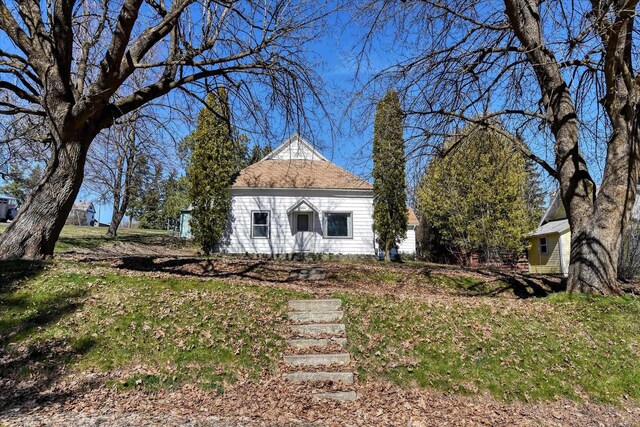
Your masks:
M 96 135 L 174 89 L 224 84 L 254 119 L 300 119 L 320 87 L 303 47 L 326 13 L 311 0 L 0 0 L 0 90 L 12 95 L 0 114 L 41 118 L 51 147 L 0 258 L 52 255 Z M 154 81 L 123 90 L 141 70 Z

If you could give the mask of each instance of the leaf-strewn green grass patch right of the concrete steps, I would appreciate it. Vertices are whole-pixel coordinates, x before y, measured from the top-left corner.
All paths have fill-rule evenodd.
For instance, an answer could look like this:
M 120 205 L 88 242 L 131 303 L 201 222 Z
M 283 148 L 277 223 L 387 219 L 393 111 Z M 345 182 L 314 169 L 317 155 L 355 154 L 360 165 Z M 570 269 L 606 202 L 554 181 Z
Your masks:
M 506 400 L 640 398 L 640 301 L 337 295 L 360 378 Z

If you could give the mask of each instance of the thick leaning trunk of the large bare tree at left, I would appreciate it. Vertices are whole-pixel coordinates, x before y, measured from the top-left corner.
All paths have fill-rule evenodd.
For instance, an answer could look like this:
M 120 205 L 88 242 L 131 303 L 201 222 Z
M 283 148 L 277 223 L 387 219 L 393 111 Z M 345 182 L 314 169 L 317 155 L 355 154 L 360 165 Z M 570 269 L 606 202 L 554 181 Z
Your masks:
M 82 185 L 89 144 L 56 143 L 45 173 L 14 221 L 0 234 L 0 259 L 46 258 Z

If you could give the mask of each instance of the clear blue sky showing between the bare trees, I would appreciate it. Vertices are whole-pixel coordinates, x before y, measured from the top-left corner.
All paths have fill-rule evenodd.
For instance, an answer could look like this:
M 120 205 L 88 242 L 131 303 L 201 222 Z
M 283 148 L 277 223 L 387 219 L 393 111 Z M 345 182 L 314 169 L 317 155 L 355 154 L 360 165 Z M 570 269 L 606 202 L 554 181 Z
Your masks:
M 358 62 L 359 42 L 363 38 L 364 30 L 350 20 L 347 12 L 334 14 L 326 26 L 324 34 L 313 44 L 308 46 L 309 58 L 323 81 L 328 97 L 324 100 L 329 115 L 335 124 L 329 125 L 329 120 L 317 120 L 312 123 L 313 132 L 302 132 L 327 157 L 338 165 L 350 170 L 366 179 L 370 178 L 371 156 L 370 142 L 373 137 L 373 109 L 363 110 L 362 102 L 356 108 L 349 108 L 354 92 L 361 87 L 375 72 L 393 64 L 403 53 L 395 49 L 393 34 L 378 32 L 368 50 L 366 61 Z M 0 39 L 0 48 L 7 48 L 7 41 Z M 405 51 L 404 55 L 408 53 Z M 356 71 L 359 80 L 356 81 Z M 377 93 L 368 93 L 369 105 L 375 101 L 375 96 L 382 96 L 386 88 L 377 88 Z M 372 101 L 373 100 L 373 101 Z M 197 104 L 196 104 L 197 105 Z M 193 118 L 197 115 L 197 109 Z M 278 118 L 274 118 L 274 125 L 278 127 Z M 240 125 L 244 125 L 239 123 Z M 192 130 L 193 124 L 175 122 L 171 130 L 171 138 L 180 140 Z M 283 130 L 274 140 L 264 140 L 256 135 L 250 135 L 252 142 L 261 145 L 278 145 L 286 139 L 294 129 Z M 179 167 L 175 156 L 169 150 L 169 165 L 165 171 Z M 97 201 L 97 195 L 88 186 L 84 186 L 80 199 Z M 96 206 L 100 212 L 100 221 L 108 222 L 111 216 L 111 203 Z

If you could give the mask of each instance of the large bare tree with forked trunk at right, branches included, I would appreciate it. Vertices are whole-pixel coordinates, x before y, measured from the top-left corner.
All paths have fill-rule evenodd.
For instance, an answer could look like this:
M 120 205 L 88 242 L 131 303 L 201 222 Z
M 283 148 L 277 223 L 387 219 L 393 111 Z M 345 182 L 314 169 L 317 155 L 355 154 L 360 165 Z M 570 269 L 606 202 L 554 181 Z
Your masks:
M 441 144 L 464 123 L 497 131 L 500 123 L 558 181 L 572 231 L 573 292 L 620 292 L 621 232 L 638 181 L 637 3 L 372 0 L 356 6 L 370 24 L 368 41 L 387 26 L 398 35 L 395 51 L 403 59 L 367 88 L 391 84 L 405 94 L 407 123 L 421 147 Z M 367 50 L 362 53 L 365 58 Z M 545 149 L 553 161 L 545 160 Z M 598 191 L 594 165 L 603 166 Z

